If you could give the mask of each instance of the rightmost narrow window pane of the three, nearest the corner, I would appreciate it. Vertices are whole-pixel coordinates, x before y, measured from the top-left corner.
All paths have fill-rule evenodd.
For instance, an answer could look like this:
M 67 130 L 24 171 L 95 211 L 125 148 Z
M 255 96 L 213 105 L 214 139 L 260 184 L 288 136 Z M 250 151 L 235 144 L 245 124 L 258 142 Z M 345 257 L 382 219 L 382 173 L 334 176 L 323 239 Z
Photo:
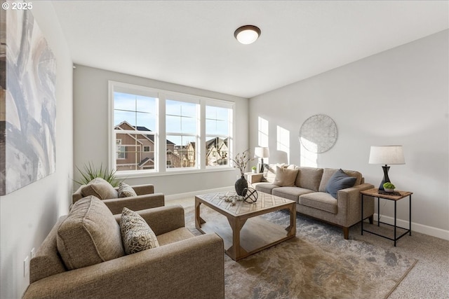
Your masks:
M 232 109 L 206 106 L 206 165 L 229 165 Z

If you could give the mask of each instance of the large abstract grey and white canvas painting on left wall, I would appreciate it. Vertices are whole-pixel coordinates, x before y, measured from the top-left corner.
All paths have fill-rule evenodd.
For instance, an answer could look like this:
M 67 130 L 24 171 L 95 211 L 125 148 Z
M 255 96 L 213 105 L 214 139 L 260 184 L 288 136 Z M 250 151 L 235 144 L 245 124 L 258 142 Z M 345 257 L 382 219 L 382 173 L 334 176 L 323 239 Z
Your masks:
M 0 195 L 6 195 L 55 172 L 56 60 L 31 10 L 2 9 L 0 19 Z

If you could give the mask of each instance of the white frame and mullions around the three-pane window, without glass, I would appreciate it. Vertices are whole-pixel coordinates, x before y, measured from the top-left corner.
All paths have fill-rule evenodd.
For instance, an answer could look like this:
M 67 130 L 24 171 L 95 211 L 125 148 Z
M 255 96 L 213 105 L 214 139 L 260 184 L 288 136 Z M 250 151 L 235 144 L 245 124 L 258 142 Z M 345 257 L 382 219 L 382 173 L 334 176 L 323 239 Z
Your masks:
M 189 172 L 214 172 L 224 170 L 234 170 L 231 158 L 234 153 L 234 137 L 235 137 L 235 103 L 223 99 L 213 99 L 199 95 L 186 94 L 182 92 L 173 92 L 170 90 L 162 90 L 159 88 L 149 88 L 142 85 L 134 85 L 129 83 L 121 83 L 118 81 L 108 81 L 109 88 L 109 127 L 108 127 L 108 151 L 109 169 L 116 169 L 116 137 L 114 133 L 114 92 L 125 92 L 136 95 L 144 95 L 156 98 L 156 130 L 151 132 L 154 134 L 154 169 L 144 170 L 126 170 L 117 171 L 118 178 L 134 178 L 142 176 L 163 176 L 171 174 L 186 174 Z M 136 93 L 138 92 L 138 93 Z M 166 140 L 171 133 L 166 132 L 166 100 L 174 100 L 180 102 L 193 102 L 199 105 L 197 115 L 196 139 L 196 167 L 176 167 L 168 168 L 167 164 L 167 142 Z M 230 109 L 229 117 L 229 152 L 227 165 L 206 165 L 206 106 L 217 106 L 220 108 Z M 208 135 L 209 136 L 209 135 Z M 214 137 L 225 137 L 225 135 L 214 135 Z M 226 136 L 228 137 L 228 136 Z M 164 141 L 165 140 L 165 141 Z M 161 142 L 164 141 L 164 142 Z

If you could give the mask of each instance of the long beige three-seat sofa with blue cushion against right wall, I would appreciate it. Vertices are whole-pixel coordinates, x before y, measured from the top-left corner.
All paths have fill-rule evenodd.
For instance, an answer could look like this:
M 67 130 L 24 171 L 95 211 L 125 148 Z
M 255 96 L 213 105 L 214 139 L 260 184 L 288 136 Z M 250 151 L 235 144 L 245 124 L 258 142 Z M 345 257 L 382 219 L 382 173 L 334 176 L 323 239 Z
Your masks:
M 298 167 L 296 165 L 264 165 L 262 174 L 248 175 L 248 183 L 259 192 L 288 198 L 296 202 L 296 211 L 343 228 L 344 239 L 349 227 L 361 221 L 360 191 L 374 188 L 365 183 L 360 172 L 344 170 L 354 177 L 354 186 L 326 192 L 331 177 L 340 169 Z M 281 174 L 279 173 L 281 171 Z M 363 218 L 373 223 L 374 198 L 364 197 Z

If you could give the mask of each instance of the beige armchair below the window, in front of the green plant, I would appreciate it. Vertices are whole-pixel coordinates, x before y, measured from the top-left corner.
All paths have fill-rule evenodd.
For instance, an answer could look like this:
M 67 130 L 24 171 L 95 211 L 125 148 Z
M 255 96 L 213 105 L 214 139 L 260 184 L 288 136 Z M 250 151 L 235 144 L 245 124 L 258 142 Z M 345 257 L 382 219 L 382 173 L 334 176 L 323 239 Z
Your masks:
M 104 180 L 95 179 L 95 181 L 95 185 L 100 187 L 93 192 L 89 188 L 92 186 L 92 183 L 81 185 L 72 195 L 72 204 L 81 200 L 83 197 L 94 195 L 105 202 L 107 207 L 112 211 L 112 214 L 120 214 L 123 207 L 127 207 L 133 211 L 140 211 L 154 207 L 163 207 L 165 204 L 165 196 L 163 193 L 154 193 L 154 185 L 152 184 L 131 186 L 137 196 L 118 197 L 119 188 L 112 187 Z

